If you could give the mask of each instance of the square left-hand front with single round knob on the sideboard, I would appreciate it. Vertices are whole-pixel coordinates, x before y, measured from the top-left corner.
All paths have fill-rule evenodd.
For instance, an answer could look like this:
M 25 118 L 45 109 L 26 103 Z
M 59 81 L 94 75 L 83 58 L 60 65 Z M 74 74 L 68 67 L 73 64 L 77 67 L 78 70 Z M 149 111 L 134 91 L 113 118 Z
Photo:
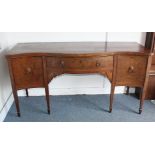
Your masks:
M 14 81 L 18 89 L 44 85 L 42 57 L 19 57 L 11 60 Z

